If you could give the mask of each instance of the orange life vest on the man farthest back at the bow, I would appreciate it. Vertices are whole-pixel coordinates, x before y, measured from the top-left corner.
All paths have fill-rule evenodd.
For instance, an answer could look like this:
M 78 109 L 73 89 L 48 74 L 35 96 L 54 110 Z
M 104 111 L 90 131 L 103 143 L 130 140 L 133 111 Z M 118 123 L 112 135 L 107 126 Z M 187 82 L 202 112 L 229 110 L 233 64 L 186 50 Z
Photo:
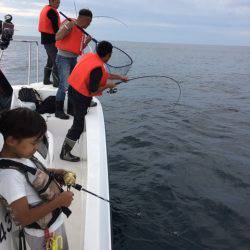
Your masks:
M 38 26 L 39 32 L 48 33 L 48 34 L 55 34 L 51 20 L 47 16 L 48 11 L 50 11 L 51 9 L 53 9 L 56 12 L 57 18 L 58 18 L 58 26 L 60 26 L 61 20 L 60 20 L 60 16 L 59 16 L 57 9 L 51 7 L 50 5 L 46 5 L 46 6 L 44 6 L 44 8 L 42 9 L 42 11 L 40 13 L 39 26 Z

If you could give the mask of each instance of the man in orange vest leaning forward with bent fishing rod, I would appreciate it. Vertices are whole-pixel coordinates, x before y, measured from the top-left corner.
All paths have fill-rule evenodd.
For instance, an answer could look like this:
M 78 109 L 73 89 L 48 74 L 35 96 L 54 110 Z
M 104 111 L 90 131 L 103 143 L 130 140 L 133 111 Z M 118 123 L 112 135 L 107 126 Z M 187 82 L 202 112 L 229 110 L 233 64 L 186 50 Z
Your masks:
M 80 161 L 80 158 L 72 155 L 70 151 L 83 132 L 85 115 L 92 97 L 102 95 L 102 92 L 107 88 L 116 87 L 115 83 L 107 83 L 108 79 L 117 79 L 124 82 L 128 80 L 127 77 L 107 72 L 105 63 L 110 59 L 112 49 L 113 46 L 109 42 L 102 41 L 98 43 L 96 53 L 84 55 L 68 78 L 70 84 L 69 99 L 73 105 L 74 121 L 62 146 L 60 153 L 62 160 Z

